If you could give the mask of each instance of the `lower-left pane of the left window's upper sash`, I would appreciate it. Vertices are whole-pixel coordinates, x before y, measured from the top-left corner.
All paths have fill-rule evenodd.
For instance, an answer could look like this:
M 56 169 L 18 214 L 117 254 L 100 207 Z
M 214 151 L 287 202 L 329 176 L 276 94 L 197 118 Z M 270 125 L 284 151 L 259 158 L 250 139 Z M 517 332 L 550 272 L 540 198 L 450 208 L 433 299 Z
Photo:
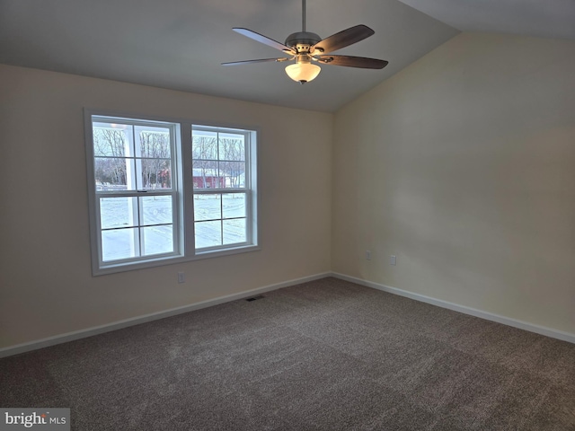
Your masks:
M 96 190 L 134 190 L 134 169 L 133 159 L 94 157 Z

